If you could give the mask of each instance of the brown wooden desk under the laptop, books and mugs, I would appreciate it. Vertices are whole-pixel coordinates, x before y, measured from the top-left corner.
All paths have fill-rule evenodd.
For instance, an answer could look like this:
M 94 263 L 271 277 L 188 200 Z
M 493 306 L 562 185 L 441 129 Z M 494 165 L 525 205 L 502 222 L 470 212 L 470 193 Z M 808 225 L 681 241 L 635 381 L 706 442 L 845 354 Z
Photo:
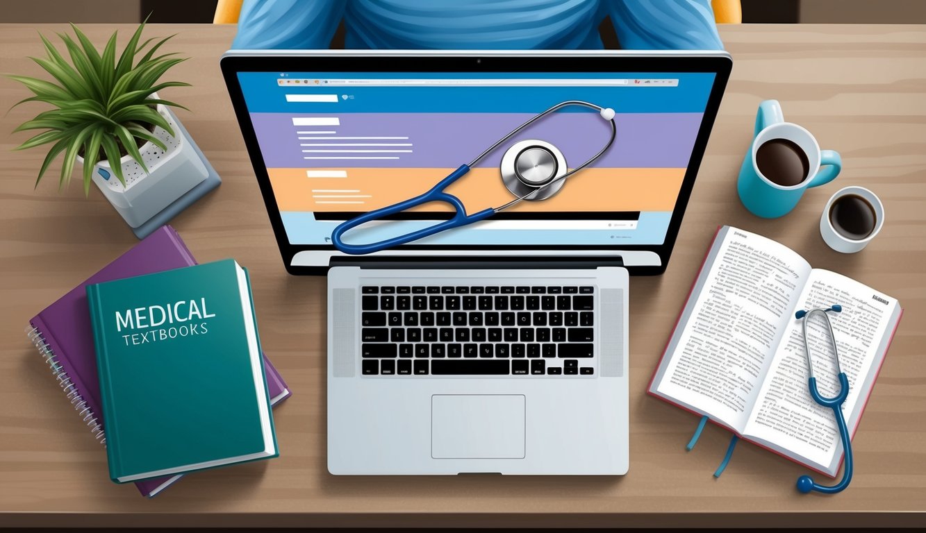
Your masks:
M 63 26 L 40 28 L 46 34 Z M 87 26 L 102 42 L 112 26 Z M 31 26 L 0 25 L 0 72 L 37 74 Z M 0 525 L 81 526 L 882 526 L 926 525 L 926 27 L 721 27 L 732 81 L 672 256 L 659 278 L 631 282 L 631 470 L 626 477 L 332 477 L 325 468 L 325 280 L 282 267 L 219 75 L 233 27 L 153 26 L 179 33 L 193 58 L 169 96 L 219 170 L 218 191 L 173 220 L 200 261 L 251 269 L 264 348 L 294 396 L 275 411 L 282 456 L 183 479 L 153 500 L 111 483 L 87 434 L 23 335 L 27 320 L 135 241 L 95 190 L 56 192 L 55 168 L 32 190 L 43 153 L 11 153 L 22 105 L 0 118 Z M 131 33 L 120 28 L 123 39 Z M 25 97 L 0 81 L 0 109 Z M 779 220 L 748 214 L 735 177 L 760 100 L 843 155 L 845 169 Z M 861 254 L 830 251 L 817 229 L 839 187 L 869 186 L 886 205 L 882 234 Z M 836 497 L 802 496 L 806 471 L 741 444 L 711 477 L 730 434 L 708 426 L 684 451 L 693 415 L 644 394 L 714 230 L 731 224 L 779 240 L 898 297 L 904 319 L 858 429 L 856 475 Z

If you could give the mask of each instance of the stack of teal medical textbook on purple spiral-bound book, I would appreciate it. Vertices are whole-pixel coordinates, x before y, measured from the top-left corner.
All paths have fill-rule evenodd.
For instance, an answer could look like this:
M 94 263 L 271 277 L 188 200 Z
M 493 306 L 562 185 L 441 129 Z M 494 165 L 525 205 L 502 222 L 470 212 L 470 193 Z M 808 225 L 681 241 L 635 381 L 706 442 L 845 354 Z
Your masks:
M 109 476 L 155 496 L 187 472 L 276 456 L 290 396 L 260 351 L 247 271 L 197 266 L 157 229 L 30 320 L 67 400 L 106 445 Z

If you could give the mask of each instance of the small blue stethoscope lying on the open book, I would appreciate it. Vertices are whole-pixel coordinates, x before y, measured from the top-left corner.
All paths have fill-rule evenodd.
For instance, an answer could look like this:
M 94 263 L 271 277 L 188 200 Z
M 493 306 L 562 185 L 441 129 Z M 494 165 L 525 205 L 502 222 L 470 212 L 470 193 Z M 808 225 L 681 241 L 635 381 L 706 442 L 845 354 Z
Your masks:
M 803 319 L 803 329 L 804 329 L 804 352 L 807 353 L 807 367 L 810 370 L 810 378 L 808 380 L 808 387 L 810 389 L 810 396 L 814 399 L 815 402 L 820 403 L 824 407 L 830 407 L 832 409 L 833 415 L 836 416 L 836 425 L 839 427 L 839 435 L 843 440 L 843 450 L 845 451 L 845 465 L 843 467 L 843 478 L 832 487 L 825 487 L 814 482 L 814 480 L 809 476 L 801 476 L 797 478 L 797 490 L 807 494 L 811 490 L 816 490 L 818 492 L 823 492 L 824 494 L 835 494 L 836 492 L 842 492 L 846 487 L 849 486 L 849 481 L 852 480 L 852 442 L 849 440 L 849 430 L 845 427 L 845 417 L 843 416 L 843 403 L 845 403 L 846 396 L 849 395 L 849 378 L 845 377 L 845 372 L 839 366 L 839 351 L 836 348 L 836 337 L 832 334 L 832 323 L 830 322 L 830 316 L 827 315 L 830 311 L 833 313 L 840 313 L 843 310 L 842 305 L 832 305 L 830 307 L 820 307 L 817 309 L 810 309 L 809 311 L 798 311 L 795 313 L 795 317 L 798 320 Z M 814 313 L 820 313 L 826 319 L 827 328 L 830 331 L 830 341 L 832 341 L 832 353 L 836 356 L 836 371 L 838 372 L 839 378 L 839 393 L 832 398 L 824 398 L 820 395 L 820 390 L 817 389 L 817 378 L 813 377 L 813 363 L 810 361 L 810 347 L 807 345 L 807 318 L 809 318 Z

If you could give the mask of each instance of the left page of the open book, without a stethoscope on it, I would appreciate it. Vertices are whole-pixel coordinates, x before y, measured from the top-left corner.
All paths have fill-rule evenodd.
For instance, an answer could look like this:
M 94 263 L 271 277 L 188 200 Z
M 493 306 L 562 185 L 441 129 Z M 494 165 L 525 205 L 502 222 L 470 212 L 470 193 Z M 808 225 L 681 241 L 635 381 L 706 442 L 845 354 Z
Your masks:
M 778 242 L 721 229 L 653 391 L 742 432 L 809 273 Z

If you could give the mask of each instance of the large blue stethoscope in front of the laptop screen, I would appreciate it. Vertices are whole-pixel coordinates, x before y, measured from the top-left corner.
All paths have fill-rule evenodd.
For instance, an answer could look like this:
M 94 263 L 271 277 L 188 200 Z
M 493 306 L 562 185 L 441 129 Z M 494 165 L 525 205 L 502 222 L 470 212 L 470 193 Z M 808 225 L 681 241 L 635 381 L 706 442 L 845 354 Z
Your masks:
M 514 194 L 514 200 L 500 207 L 490 207 L 478 213 L 467 215 L 466 207 L 463 206 L 463 203 L 460 202 L 459 198 L 453 194 L 444 192 L 444 189 L 448 185 L 454 181 L 457 181 L 460 177 L 469 172 L 470 167 L 476 165 L 476 163 L 478 163 L 482 157 L 492 152 L 495 148 L 498 147 L 499 144 L 505 143 L 513 135 L 517 134 L 520 130 L 527 128 L 537 120 L 540 120 L 541 118 L 544 118 L 547 115 L 557 111 L 558 109 L 568 105 L 582 105 L 584 107 L 590 107 L 598 111 L 598 114 L 601 116 L 601 118 L 604 118 L 611 123 L 611 138 L 607 141 L 605 147 L 598 151 L 597 154 L 590 157 L 587 161 L 582 163 L 582 165 L 575 167 L 572 170 L 568 170 L 568 167 L 566 166 L 566 158 L 563 156 L 562 152 L 560 152 L 559 149 L 553 144 L 537 140 L 520 141 L 519 143 L 514 143 L 510 148 L 507 149 L 505 155 L 502 157 L 502 163 L 500 166 L 502 182 L 505 183 L 507 190 Z M 449 176 L 444 178 L 444 180 L 439 181 L 430 191 L 420 194 L 419 196 L 415 196 L 414 198 L 409 198 L 404 202 L 399 202 L 395 205 L 389 205 L 387 207 L 382 207 L 381 209 L 369 211 L 369 213 L 364 213 L 363 215 L 342 222 L 332 232 L 332 243 L 334 244 L 335 248 L 344 252 L 345 254 L 370 254 L 373 252 L 380 252 L 387 248 L 398 246 L 399 244 L 417 241 L 423 237 L 433 235 L 434 233 L 438 233 L 446 229 L 459 228 L 460 226 L 466 226 L 468 224 L 472 224 L 473 222 L 484 220 L 488 217 L 492 217 L 495 213 L 506 210 L 508 207 L 519 204 L 519 202 L 522 200 L 534 202 L 545 200 L 562 189 L 563 185 L 566 183 L 566 179 L 569 178 L 569 176 L 582 170 L 584 167 L 588 167 L 594 163 L 595 160 L 604 155 L 605 152 L 607 152 L 607 149 L 611 147 L 611 144 L 614 143 L 617 132 L 617 125 L 614 123 L 614 109 L 611 109 L 610 107 L 602 107 L 600 105 L 590 104 L 581 100 L 569 100 L 566 102 L 561 102 L 557 105 L 554 105 L 553 107 L 550 107 L 540 115 L 537 115 L 536 117 L 531 118 L 527 122 L 521 124 L 518 128 L 511 130 L 505 137 L 495 141 L 492 146 L 489 146 L 488 149 L 473 159 L 468 165 L 461 165 L 459 168 L 450 173 Z M 449 220 L 439 224 L 435 224 L 425 229 L 412 231 L 406 235 L 393 237 L 392 239 L 386 239 L 381 242 L 370 242 L 369 244 L 347 244 L 341 240 L 342 235 L 344 235 L 344 231 L 347 231 L 348 229 L 356 228 L 357 226 L 365 224 L 371 220 L 388 217 L 390 215 L 394 215 L 395 213 L 405 211 L 417 205 L 427 204 L 429 202 L 445 202 L 447 204 L 453 205 L 456 213 Z

